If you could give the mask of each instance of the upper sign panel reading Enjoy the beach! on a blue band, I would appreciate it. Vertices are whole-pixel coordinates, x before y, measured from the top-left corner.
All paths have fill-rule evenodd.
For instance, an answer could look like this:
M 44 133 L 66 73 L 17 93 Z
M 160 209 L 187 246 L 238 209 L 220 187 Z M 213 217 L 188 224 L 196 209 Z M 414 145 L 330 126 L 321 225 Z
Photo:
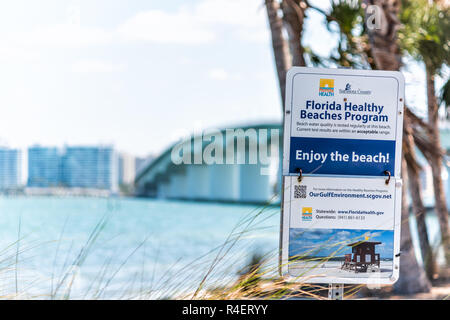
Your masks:
M 292 68 L 283 175 L 399 178 L 403 107 L 400 72 Z

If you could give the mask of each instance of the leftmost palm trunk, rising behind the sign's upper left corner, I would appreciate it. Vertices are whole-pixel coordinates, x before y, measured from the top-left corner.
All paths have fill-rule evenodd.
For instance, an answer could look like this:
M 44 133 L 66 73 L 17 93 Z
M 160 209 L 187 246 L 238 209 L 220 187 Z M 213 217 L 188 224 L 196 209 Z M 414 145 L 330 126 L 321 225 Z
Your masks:
M 276 0 L 265 0 L 267 16 L 269 18 L 270 33 L 272 35 L 272 47 L 275 56 L 275 64 L 278 74 L 278 83 L 280 86 L 281 102 L 284 114 L 284 96 L 286 94 L 286 73 L 291 64 L 289 47 L 283 37 L 283 21 L 278 15 L 280 5 Z

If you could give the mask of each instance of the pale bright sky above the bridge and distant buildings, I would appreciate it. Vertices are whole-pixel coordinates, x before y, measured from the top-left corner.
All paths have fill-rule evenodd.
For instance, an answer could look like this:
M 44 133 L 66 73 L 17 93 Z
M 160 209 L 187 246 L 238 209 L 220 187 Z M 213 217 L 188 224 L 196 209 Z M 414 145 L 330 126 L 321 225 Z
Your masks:
M 327 2 L 313 1 L 322 7 Z M 280 121 L 262 0 L 15 0 L 0 5 L 0 144 L 158 154 L 193 128 Z M 310 12 L 304 43 L 335 36 Z M 423 105 L 420 67 L 406 72 Z M 421 93 L 423 91 L 423 93 Z

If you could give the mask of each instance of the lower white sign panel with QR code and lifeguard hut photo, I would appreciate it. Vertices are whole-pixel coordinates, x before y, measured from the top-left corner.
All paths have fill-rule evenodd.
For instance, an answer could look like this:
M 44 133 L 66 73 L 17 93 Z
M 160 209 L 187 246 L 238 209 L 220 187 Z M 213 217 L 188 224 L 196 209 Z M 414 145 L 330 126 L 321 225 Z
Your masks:
M 286 177 L 282 274 L 312 283 L 395 282 L 401 186 L 384 179 Z M 364 251 L 353 252 L 358 246 Z

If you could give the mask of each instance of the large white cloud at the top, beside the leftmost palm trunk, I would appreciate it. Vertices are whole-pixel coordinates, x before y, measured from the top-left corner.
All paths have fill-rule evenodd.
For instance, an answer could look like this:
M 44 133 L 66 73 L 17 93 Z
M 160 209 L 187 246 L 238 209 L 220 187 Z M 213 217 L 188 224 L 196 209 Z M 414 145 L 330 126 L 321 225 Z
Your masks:
M 121 24 L 118 33 L 127 40 L 173 44 L 209 43 L 222 33 L 245 41 L 269 39 L 259 0 L 203 0 L 175 12 L 143 11 Z

